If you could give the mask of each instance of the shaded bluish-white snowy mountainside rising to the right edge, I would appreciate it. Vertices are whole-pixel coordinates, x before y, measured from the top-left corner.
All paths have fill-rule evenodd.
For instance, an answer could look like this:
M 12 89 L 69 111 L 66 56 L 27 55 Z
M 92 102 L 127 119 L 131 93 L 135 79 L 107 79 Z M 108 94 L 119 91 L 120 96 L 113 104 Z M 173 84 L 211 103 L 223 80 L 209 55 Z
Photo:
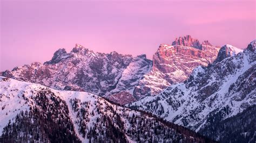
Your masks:
M 195 131 L 211 124 L 213 118 L 224 120 L 237 115 L 256 104 L 255 46 L 256 40 L 243 52 L 235 53 L 237 49 L 225 45 L 212 64 L 197 67 L 185 82 L 127 106 Z

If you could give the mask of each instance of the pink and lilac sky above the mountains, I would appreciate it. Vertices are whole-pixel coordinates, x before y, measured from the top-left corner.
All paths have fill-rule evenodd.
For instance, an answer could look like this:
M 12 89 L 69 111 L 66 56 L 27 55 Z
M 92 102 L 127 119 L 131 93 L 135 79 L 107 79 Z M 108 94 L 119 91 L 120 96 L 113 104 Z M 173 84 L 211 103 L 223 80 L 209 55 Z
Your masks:
M 1 2 L 0 71 L 52 58 L 75 44 L 152 59 L 161 43 L 190 34 L 245 48 L 256 39 L 255 1 Z

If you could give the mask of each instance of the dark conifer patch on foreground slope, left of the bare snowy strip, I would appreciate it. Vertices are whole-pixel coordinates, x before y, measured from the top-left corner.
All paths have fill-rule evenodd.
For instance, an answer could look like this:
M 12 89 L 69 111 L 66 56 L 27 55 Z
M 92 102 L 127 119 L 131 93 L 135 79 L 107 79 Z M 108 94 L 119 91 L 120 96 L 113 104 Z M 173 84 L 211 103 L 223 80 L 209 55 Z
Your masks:
M 21 111 L 4 127 L 0 142 L 79 142 L 65 101 L 48 88 L 34 92 L 30 111 Z M 7 114 L 7 113 L 6 113 Z

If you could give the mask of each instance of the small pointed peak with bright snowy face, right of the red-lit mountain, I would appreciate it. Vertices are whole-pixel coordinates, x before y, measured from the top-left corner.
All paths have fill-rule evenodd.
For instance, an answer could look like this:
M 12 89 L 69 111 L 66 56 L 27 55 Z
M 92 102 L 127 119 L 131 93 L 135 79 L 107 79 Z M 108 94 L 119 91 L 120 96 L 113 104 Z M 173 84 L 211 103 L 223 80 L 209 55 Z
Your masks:
M 236 48 L 232 45 L 225 45 L 220 48 L 217 59 L 214 62 L 220 62 L 230 56 L 234 56 L 235 54 L 241 52 L 242 49 Z

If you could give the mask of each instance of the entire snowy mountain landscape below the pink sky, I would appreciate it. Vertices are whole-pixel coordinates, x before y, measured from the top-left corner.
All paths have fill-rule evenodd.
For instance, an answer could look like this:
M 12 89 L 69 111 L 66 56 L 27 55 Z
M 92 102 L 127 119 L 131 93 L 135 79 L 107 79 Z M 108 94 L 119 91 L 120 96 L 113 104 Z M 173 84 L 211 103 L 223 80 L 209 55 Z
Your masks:
M 256 40 L 146 55 L 76 44 L 0 73 L 0 142 L 255 142 Z

